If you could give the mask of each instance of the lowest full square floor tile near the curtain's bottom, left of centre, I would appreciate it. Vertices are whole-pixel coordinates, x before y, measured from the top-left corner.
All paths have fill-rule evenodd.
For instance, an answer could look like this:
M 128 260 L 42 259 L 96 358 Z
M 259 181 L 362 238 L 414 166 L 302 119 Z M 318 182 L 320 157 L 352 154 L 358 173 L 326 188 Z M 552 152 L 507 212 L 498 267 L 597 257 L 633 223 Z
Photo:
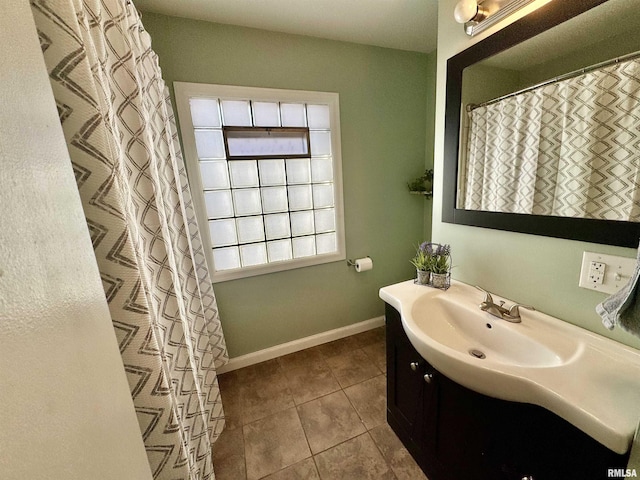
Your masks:
M 247 479 L 256 480 L 311 456 L 295 408 L 243 427 Z

